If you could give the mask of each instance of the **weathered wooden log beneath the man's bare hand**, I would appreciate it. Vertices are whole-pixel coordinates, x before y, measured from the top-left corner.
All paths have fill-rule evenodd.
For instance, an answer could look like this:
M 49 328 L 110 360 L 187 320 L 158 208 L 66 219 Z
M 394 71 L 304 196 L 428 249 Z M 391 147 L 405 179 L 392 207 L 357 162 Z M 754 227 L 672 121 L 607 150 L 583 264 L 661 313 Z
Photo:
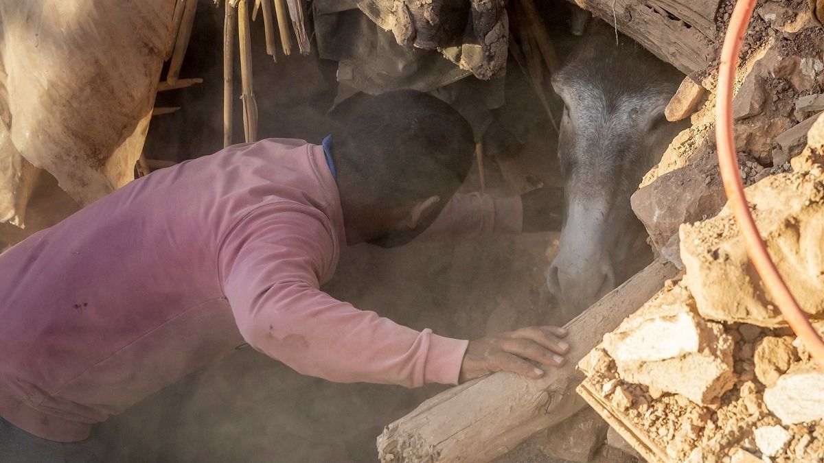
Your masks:
M 540 380 L 495 373 L 425 401 L 377 437 L 381 461 L 491 461 L 569 418 L 584 405 L 574 392 L 583 380 L 575 365 L 677 274 L 675 265 L 656 260 L 570 321 L 565 366 Z

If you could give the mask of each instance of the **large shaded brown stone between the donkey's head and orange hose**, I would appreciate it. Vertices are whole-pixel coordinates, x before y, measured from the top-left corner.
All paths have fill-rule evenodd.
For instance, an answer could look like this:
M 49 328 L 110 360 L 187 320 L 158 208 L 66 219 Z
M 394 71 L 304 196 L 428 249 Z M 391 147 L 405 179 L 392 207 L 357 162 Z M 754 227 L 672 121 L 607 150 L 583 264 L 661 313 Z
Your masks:
M 630 204 L 652 245 L 662 250 L 682 223 L 712 217 L 726 201 L 715 153 L 703 148 L 687 166 L 638 189 Z

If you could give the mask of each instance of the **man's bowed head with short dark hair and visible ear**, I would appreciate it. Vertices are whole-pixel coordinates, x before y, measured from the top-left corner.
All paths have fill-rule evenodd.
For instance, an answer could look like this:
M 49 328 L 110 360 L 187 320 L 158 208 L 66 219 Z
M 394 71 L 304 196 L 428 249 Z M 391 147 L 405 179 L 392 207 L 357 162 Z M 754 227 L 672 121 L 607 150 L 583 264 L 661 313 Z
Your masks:
M 380 246 L 405 244 L 438 217 L 475 148 L 466 119 L 419 91 L 374 97 L 334 143 L 347 241 Z

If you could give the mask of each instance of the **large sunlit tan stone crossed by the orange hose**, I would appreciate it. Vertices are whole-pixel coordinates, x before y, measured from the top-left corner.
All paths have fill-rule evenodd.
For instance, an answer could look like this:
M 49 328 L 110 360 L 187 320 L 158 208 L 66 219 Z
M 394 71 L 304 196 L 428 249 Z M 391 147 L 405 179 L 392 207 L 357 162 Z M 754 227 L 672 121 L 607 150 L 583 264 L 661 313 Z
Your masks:
M 790 291 L 812 320 L 824 319 L 824 170 L 770 175 L 747 187 L 767 249 Z M 680 229 L 684 282 L 701 316 L 726 323 L 786 326 L 747 257 L 729 206 Z

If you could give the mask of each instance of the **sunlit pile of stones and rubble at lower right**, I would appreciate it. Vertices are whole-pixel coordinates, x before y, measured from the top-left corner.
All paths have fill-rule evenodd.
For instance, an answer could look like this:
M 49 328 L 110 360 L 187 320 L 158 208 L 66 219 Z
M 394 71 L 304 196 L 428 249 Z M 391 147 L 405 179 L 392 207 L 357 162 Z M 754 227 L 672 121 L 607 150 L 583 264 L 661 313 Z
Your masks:
M 816 121 L 794 172 L 766 176 L 747 198 L 770 255 L 824 334 L 822 136 Z M 653 461 L 822 461 L 824 370 L 762 288 L 732 212 L 681 226 L 680 243 L 683 278 L 579 363 L 588 391 Z

